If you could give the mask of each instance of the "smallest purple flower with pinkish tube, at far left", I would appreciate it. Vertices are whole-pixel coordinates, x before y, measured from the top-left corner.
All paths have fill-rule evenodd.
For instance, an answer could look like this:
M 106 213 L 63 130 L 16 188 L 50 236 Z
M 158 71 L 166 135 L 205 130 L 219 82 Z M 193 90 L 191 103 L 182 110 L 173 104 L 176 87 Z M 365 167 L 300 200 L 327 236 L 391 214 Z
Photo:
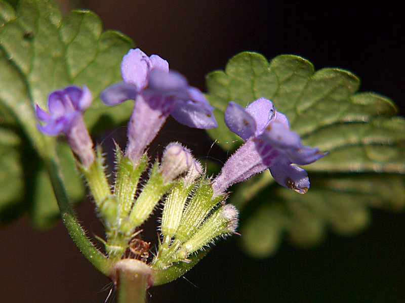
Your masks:
M 90 106 L 92 95 L 86 85 L 83 90 L 67 86 L 48 96 L 49 113 L 36 105 L 36 117 L 44 125 L 37 124 L 39 131 L 49 136 L 64 133 L 73 152 L 88 167 L 94 161 L 93 141 L 83 121 L 83 112 Z

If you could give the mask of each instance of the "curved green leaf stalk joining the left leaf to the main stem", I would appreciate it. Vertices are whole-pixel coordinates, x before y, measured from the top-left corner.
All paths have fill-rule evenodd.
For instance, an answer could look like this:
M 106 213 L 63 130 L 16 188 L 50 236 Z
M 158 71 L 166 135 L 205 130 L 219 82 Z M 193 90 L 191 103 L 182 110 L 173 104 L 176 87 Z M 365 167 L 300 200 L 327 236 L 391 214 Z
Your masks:
M 62 178 L 59 166 L 55 162 L 55 157 L 43 157 L 45 166 L 47 167 L 52 187 L 54 189 L 56 200 L 58 201 L 63 224 L 73 239 L 73 242 L 79 248 L 80 252 L 93 264 L 100 272 L 108 275 L 112 266 L 111 261 L 101 253 L 86 236 L 85 231 L 77 222 L 76 215 L 70 207 L 65 187 L 62 183 Z

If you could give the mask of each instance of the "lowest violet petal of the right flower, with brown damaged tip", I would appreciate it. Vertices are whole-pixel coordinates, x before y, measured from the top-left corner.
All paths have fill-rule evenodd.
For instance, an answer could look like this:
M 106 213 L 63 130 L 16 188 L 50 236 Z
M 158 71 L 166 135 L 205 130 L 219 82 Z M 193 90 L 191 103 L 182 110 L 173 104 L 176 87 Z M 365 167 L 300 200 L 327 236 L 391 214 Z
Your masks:
M 309 179 L 305 169 L 282 161 L 274 161 L 270 166 L 271 176 L 281 186 L 290 188 L 297 193 L 306 194 Z

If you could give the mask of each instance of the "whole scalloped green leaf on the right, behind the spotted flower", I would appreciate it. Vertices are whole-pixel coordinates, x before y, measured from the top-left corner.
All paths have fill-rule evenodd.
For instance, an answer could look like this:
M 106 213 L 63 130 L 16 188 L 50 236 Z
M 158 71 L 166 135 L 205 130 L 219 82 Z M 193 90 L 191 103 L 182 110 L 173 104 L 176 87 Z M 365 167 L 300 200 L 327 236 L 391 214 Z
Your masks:
M 228 102 L 247 106 L 265 97 L 287 115 L 303 144 L 329 152 L 305 166 L 311 181 L 306 195 L 275 184 L 268 171 L 233 187 L 229 201 L 243 210 L 242 245 L 250 254 L 274 253 L 285 234 L 304 247 L 319 243 L 328 228 L 353 234 L 367 227 L 370 207 L 405 206 L 405 119 L 395 116 L 391 100 L 358 93 L 359 79 L 352 73 L 315 72 L 309 61 L 293 55 L 268 62 L 244 52 L 230 59 L 225 71 L 208 74 L 207 86 L 219 124 L 209 134 L 222 148 L 241 144 L 223 120 Z

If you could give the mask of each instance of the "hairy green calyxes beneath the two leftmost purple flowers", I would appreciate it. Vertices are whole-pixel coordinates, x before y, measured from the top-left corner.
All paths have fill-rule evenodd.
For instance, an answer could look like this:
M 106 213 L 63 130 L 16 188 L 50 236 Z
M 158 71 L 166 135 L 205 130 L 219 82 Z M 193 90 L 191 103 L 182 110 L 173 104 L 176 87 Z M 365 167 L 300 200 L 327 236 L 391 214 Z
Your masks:
M 120 259 L 129 247 L 131 239 L 136 234 L 137 228 L 142 223 L 134 222 L 131 217 L 135 193 L 142 172 L 147 167 L 147 156 L 143 155 L 141 161 L 134 167 L 131 160 L 124 157 L 121 150 L 116 146 L 116 174 L 113 190 L 107 180 L 103 165 L 104 157 L 101 148 L 97 148 L 97 157 L 90 167 L 80 166 L 90 193 L 96 205 L 105 228 L 106 240 L 101 240 L 110 259 Z M 154 175 L 156 177 L 156 174 Z M 159 202 L 150 200 L 147 209 L 143 213 L 152 212 L 154 205 Z

